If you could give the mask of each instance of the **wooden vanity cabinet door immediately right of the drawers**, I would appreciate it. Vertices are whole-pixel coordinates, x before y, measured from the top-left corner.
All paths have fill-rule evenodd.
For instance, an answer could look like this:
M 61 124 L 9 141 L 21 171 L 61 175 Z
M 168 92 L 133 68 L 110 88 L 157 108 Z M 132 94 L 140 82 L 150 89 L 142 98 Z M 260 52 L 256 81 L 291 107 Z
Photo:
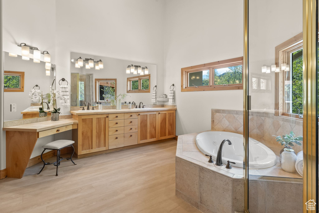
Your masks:
M 158 140 L 158 112 L 140 112 L 137 121 L 137 143 Z

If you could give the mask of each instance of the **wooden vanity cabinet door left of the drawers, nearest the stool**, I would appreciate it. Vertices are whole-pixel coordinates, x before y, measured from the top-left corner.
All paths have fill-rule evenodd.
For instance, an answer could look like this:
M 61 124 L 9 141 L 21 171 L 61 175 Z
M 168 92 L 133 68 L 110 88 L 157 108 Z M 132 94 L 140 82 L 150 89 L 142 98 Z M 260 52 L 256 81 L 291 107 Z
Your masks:
M 108 114 L 78 116 L 78 154 L 108 149 Z

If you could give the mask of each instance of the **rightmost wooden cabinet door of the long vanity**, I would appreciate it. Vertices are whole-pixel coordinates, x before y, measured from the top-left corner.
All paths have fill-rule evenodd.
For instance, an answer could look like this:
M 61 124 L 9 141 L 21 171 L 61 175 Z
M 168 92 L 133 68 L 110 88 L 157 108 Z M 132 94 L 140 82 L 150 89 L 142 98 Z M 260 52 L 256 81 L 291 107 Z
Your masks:
M 175 137 L 175 110 L 160 111 L 159 140 Z

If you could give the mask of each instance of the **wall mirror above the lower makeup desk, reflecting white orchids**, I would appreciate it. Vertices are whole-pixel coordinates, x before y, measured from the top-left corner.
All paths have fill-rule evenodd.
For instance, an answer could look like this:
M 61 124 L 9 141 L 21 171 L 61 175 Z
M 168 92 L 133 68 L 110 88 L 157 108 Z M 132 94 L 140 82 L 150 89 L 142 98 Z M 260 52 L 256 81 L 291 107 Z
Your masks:
M 39 117 L 42 101 L 46 102 L 45 111 L 52 109 L 50 101 L 56 88 L 56 70 L 51 64 L 48 72 L 45 65 L 43 61 L 34 63 L 32 58 L 22 60 L 21 55 L 4 52 L 4 121 Z

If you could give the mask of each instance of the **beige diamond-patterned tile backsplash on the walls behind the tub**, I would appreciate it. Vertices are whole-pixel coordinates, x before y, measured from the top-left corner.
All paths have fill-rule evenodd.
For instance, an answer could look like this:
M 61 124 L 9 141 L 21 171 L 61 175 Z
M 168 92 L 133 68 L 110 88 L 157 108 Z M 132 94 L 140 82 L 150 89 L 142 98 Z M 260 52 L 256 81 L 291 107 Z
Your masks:
M 243 133 L 243 112 L 238 110 L 211 109 L 211 130 Z M 249 137 L 262 142 L 276 155 L 282 146 L 275 136 L 282 136 L 293 131 L 296 136 L 303 135 L 302 121 L 274 116 L 271 113 L 249 112 Z M 301 141 L 302 143 L 302 141 Z M 302 151 L 302 146 L 293 147 L 296 154 Z

